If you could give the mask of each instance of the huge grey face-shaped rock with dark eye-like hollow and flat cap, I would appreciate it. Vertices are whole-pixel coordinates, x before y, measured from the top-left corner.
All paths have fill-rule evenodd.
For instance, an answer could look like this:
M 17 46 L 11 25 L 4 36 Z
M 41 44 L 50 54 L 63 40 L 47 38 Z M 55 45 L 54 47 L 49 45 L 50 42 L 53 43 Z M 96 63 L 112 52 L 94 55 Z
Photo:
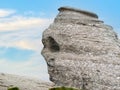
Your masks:
M 57 86 L 120 90 L 120 43 L 94 13 L 61 7 L 43 32 L 42 54 Z

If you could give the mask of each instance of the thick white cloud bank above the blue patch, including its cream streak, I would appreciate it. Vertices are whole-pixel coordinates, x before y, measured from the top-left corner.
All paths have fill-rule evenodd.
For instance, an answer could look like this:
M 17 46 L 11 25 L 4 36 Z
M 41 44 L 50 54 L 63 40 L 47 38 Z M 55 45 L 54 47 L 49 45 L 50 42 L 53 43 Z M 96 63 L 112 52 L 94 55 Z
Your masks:
M 30 12 L 26 13 L 30 14 Z M 33 13 L 31 16 L 15 13 L 10 17 L 0 18 L 0 46 L 30 49 L 40 52 L 42 49 L 40 41 L 42 31 L 51 21 L 52 19 L 35 17 Z

